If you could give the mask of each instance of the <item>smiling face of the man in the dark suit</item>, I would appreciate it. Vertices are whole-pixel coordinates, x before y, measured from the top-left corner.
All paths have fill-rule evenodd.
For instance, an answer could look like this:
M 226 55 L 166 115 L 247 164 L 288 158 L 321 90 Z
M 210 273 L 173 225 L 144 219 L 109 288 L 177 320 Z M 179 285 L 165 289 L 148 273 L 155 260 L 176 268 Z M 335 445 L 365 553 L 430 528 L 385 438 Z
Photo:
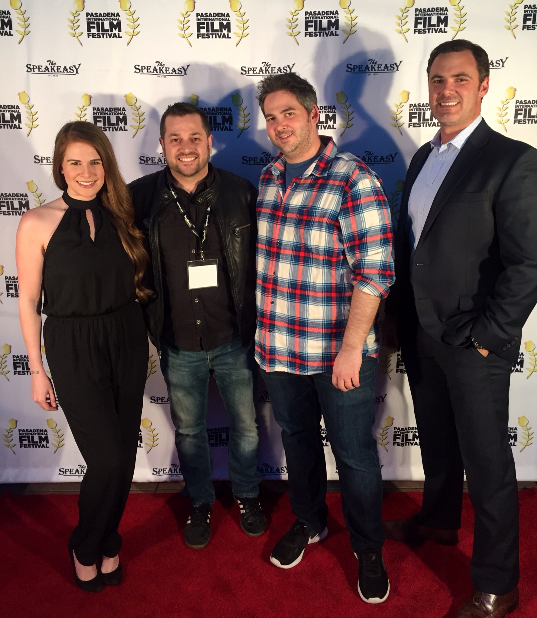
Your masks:
M 489 78 L 480 84 L 477 63 L 471 51 L 439 54 L 429 70 L 429 107 L 444 132 L 459 133 L 481 113 L 481 99 L 488 92 Z

